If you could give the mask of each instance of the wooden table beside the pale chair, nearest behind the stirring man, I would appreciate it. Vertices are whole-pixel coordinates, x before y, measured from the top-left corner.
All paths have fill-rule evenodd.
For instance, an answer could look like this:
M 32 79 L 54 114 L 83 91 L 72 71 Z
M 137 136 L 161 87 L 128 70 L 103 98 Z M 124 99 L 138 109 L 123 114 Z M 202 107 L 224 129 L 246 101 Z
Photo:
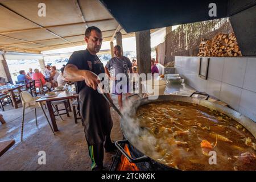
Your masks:
M 38 100 L 36 100 L 36 102 L 40 103 L 40 106 L 42 107 L 42 102 L 46 102 L 47 105 L 47 109 L 49 112 L 49 116 L 51 118 L 51 122 L 52 122 L 52 127 L 54 131 L 59 131 L 58 127 L 57 127 L 57 123 L 56 123 L 56 119 L 55 119 L 55 115 L 54 115 L 54 111 L 52 108 L 52 101 L 60 101 L 60 100 L 66 100 L 66 99 L 72 99 L 72 98 L 78 98 L 79 95 L 78 94 L 73 94 L 73 93 L 68 93 L 67 91 L 60 91 L 60 92 L 56 92 L 57 96 L 55 97 L 41 97 Z M 43 109 L 43 107 L 42 107 Z M 44 111 L 44 109 L 43 109 Z

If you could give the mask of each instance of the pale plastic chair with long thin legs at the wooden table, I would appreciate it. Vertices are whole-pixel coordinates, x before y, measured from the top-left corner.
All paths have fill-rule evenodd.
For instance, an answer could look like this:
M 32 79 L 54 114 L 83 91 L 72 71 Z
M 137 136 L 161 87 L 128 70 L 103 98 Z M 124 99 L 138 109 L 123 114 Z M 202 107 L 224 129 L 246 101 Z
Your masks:
M 30 109 L 34 109 L 35 110 L 35 120 L 36 120 L 36 126 L 38 126 L 38 119 L 36 118 L 36 108 L 41 107 L 41 109 L 43 110 L 42 105 L 39 102 L 35 102 L 36 100 L 38 100 L 40 97 L 32 97 L 30 93 L 23 91 L 20 93 L 20 98 L 22 100 L 22 106 L 23 106 L 23 113 L 22 113 L 22 131 L 21 131 L 21 140 L 23 140 L 23 126 L 24 126 L 24 113 L 25 113 L 25 109 L 26 108 L 30 108 Z M 47 115 L 45 113 L 45 111 L 43 110 L 44 116 L 47 119 L 47 122 L 49 124 L 49 126 L 51 127 L 52 133 L 54 133 L 52 126 L 49 122 L 49 119 L 47 118 Z

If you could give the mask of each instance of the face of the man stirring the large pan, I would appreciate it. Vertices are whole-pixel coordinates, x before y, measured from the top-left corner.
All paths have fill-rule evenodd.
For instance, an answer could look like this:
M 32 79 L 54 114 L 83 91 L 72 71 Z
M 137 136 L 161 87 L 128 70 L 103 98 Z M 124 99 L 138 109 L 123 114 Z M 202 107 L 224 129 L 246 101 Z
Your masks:
M 102 34 L 95 30 L 92 30 L 90 32 L 89 38 L 85 37 L 85 42 L 87 43 L 87 48 L 89 49 L 89 51 L 96 54 L 101 49 Z

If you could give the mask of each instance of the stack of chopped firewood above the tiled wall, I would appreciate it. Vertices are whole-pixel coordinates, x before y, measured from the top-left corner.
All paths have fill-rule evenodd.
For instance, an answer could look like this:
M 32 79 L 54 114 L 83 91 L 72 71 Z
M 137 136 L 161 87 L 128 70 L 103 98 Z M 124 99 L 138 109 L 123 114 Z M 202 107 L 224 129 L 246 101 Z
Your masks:
M 242 56 L 237 38 L 233 33 L 218 34 L 212 40 L 201 39 L 197 56 L 236 57 Z

